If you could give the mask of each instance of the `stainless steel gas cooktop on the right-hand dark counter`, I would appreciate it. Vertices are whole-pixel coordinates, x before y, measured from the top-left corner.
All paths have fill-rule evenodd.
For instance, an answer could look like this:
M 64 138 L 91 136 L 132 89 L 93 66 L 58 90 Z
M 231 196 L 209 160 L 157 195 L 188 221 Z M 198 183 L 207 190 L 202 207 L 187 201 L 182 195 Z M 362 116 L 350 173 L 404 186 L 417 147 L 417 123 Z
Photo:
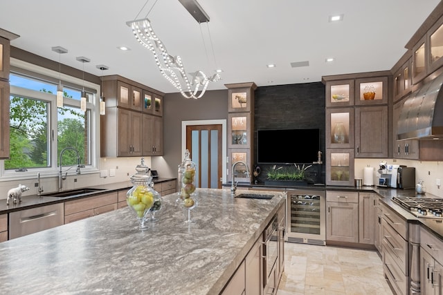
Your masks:
M 394 197 L 392 200 L 419 218 L 443 219 L 443 199 Z

